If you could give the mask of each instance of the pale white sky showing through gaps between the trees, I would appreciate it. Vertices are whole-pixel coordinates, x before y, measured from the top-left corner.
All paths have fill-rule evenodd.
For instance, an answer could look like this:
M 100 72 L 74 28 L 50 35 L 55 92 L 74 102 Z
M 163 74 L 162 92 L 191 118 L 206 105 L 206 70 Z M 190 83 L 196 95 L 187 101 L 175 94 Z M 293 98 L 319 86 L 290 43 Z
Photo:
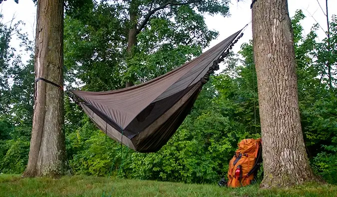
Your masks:
M 219 37 L 211 42 L 211 46 L 214 46 L 219 41 L 225 39 L 229 35 L 233 34 L 237 30 L 244 27 L 251 20 L 251 0 L 231 0 L 230 5 L 230 17 L 224 18 L 220 15 L 210 16 L 205 15 L 206 24 L 210 29 L 215 29 L 219 31 Z M 315 23 L 320 23 L 321 26 L 326 30 L 326 16 L 321 10 L 318 1 L 321 3 L 323 9 L 325 10 L 325 0 L 288 0 L 290 16 L 294 16 L 297 9 L 302 9 L 304 14 L 307 16 L 302 22 L 305 33 L 309 33 L 311 27 Z M 337 0 L 329 0 L 329 15 L 337 14 Z M 22 27 L 24 32 L 27 32 L 29 39 L 34 37 L 35 29 L 35 18 L 36 18 L 36 7 L 32 0 L 19 0 L 16 4 L 14 0 L 6 0 L 0 4 L 1 13 L 3 14 L 2 22 L 10 21 L 12 16 L 15 15 L 15 21 L 22 20 L 25 22 L 25 26 Z M 310 15 L 313 15 L 314 18 Z M 316 21 L 317 22 L 316 22 Z M 240 45 L 244 42 L 248 42 L 252 39 L 252 26 L 251 24 L 246 28 L 245 35 L 240 39 L 240 41 L 233 48 L 234 52 L 240 49 Z M 323 39 L 325 33 L 322 29 L 318 32 L 320 39 Z M 17 41 L 13 40 L 12 44 L 17 45 Z M 24 58 L 26 60 L 27 58 Z

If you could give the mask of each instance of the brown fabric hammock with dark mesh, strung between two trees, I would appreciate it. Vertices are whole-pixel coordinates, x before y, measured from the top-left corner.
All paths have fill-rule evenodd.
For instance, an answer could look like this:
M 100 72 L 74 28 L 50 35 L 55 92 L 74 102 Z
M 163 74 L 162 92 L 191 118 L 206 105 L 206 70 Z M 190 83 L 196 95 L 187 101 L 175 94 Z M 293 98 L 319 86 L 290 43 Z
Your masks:
M 107 92 L 70 91 L 107 136 L 141 153 L 157 152 L 184 121 L 209 75 L 242 37 L 240 32 L 145 83 Z

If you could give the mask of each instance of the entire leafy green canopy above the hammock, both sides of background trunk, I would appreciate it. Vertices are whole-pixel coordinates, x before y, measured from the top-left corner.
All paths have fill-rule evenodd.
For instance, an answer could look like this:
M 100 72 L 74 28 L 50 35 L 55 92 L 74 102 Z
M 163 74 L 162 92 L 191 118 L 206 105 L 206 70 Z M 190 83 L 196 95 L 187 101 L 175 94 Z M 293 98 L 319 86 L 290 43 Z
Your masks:
M 126 81 L 144 82 L 180 66 L 218 35 L 202 13 L 228 13 L 227 0 L 73 1 L 64 23 L 65 79 L 90 91 L 120 89 Z M 126 55 L 131 4 L 138 7 L 139 33 L 132 55 Z

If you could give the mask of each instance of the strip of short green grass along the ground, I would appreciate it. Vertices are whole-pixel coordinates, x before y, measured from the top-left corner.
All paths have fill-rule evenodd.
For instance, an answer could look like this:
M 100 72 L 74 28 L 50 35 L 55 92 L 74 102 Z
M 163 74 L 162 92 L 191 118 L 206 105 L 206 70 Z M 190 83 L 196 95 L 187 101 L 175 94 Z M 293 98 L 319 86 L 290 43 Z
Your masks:
M 306 184 L 290 189 L 259 190 L 220 188 L 217 185 L 183 184 L 72 176 L 61 179 L 20 178 L 0 175 L 2 197 L 337 197 L 337 186 Z

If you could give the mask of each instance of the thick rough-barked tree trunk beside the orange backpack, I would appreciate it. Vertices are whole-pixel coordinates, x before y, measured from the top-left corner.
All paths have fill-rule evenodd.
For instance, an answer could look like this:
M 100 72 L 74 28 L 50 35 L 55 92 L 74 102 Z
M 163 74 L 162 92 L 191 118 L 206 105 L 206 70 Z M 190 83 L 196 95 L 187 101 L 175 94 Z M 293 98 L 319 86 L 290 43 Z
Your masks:
M 287 0 L 257 0 L 252 22 L 263 142 L 261 188 L 317 181 L 301 129 Z

